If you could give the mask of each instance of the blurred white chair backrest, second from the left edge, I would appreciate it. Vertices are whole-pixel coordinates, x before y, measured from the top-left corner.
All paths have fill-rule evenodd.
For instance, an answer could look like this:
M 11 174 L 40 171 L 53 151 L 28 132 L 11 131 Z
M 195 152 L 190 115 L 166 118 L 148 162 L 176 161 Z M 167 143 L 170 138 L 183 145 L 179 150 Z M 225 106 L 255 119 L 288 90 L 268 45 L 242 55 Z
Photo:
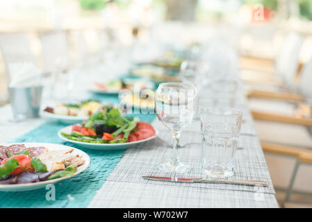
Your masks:
M 69 44 L 65 31 L 42 33 L 39 35 L 44 69 L 54 71 L 60 58 L 69 58 Z

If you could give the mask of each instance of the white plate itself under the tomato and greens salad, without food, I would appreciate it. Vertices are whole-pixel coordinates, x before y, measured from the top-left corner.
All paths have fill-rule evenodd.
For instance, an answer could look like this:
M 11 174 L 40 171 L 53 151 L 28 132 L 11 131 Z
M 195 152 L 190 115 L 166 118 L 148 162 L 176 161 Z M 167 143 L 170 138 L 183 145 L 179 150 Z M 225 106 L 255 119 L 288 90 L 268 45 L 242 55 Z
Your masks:
M 59 130 L 58 131 L 58 137 L 60 137 L 60 139 L 64 139 L 68 142 L 72 142 L 73 144 L 78 144 L 79 146 L 82 146 L 85 148 L 91 148 L 91 149 L 103 150 L 103 151 L 105 151 L 105 150 L 119 150 L 119 149 L 123 149 L 123 148 L 129 148 L 129 147 L 134 146 L 136 144 L 140 144 L 143 142 L 147 142 L 151 139 L 154 139 L 158 135 L 158 131 L 156 131 L 156 133 L 153 137 L 149 137 L 147 139 L 142 139 L 142 140 L 135 141 L 135 142 L 129 142 L 129 143 L 123 143 L 123 144 L 92 144 L 92 143 L 78 142 L 78 141 L 74 141 L 72 139 L 67 139 L 62 134 L 60 134 L 61 132 L 72 133 L 72 126 L 66 126 L 65 128 Z

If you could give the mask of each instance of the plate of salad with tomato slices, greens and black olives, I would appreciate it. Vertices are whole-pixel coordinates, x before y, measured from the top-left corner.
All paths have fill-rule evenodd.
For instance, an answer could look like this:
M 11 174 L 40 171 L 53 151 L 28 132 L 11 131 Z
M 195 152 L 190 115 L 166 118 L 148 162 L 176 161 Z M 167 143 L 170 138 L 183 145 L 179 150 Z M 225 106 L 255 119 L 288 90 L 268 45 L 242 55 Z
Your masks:
M 58 136 L 85 148 L 113 150 L 128 148 L 156 137 L 149 123 L 137 117 L 122 117 L 120 110 L 97 112 L 88 121 L 67 126 L 58 131 Z

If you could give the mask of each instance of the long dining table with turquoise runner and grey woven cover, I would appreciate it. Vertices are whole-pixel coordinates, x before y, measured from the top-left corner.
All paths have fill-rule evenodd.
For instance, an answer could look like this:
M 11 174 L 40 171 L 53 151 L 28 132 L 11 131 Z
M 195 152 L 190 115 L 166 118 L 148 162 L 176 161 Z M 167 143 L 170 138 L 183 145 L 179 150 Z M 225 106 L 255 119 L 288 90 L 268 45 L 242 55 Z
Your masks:
M 0 207 L 279 207 L 261 144 L 244 95 L 243 83 L 236 93 L 236 107 L 243 111 L 234 164 L 235 180 L 265 180 L 267 187 L 222 183 L 183 183 L 145 180 L 142 176 L 202 178 L 200 120 L 181 133 L 179 156 L 192 168 L 183 174 L 163 173 L 156 165 L 172 155 L 172 135 L 155 114 L 137 114 L 151 123 L 158 135 L 149 142 L 118 151 L 95 151 L 64 142 L 57 136 L 64 123 L 49 119 L 12 119 L 10 105 L 0 108 L 0 143 L 47 142 L 80 148 L 91 164 L 78 176 L 56 185 L 56 200 L 45 198 L 46 189 L 0 192 Z M 205 91 L 207 90 L 207 92 Z M 199 105 L 209 105 L 208 89 L 200 92 Z M 90 94 L 92 97 L 92 94 Z M 94 95 L 93 95 L 94 96 Z M 118 103 L 112 95 L 92 97 Z

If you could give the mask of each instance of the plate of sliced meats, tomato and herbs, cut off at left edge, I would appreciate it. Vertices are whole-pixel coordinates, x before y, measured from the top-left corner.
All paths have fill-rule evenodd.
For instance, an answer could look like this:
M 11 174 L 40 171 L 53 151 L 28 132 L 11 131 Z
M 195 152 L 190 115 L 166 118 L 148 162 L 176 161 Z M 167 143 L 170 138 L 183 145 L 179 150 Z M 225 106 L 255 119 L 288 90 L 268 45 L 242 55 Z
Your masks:
M 85 152 L 60 144 L 0 144 L 0 191 L 28 191 L 66 180 L 90 165 Z

